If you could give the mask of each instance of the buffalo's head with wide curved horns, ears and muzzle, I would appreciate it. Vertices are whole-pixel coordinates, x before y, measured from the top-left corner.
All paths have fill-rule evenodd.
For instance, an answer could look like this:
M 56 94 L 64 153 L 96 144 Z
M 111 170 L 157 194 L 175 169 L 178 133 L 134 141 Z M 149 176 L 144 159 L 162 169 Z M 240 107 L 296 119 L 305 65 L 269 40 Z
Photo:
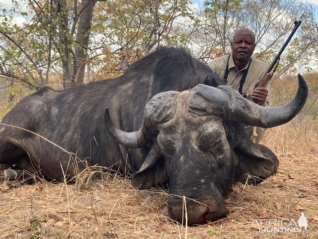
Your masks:
M 133 177 L 133 186 L 145 189 L 168 180 L 170 217 L 184 222 L 186 206 L 188 224 L 203 224 L 228 213 L 223 197 L 236 177 L 236 166 L 244 164 L 240 170 L 251 168 L 249 156 L 265 162 L 264 167 L 255 165 L 256 171 L 264 174 L 260 175 L 262 178 L 277 170 L 270 154 L 263 154 L 261 148 L 247 139 L 244 130 L 238 131 L 231 125 L 240 125 L 242 129 L 242 124 L 273 127 L 286 123 L 299 113 L 307 95 L 307 85 L 301 75 L 294 100 L 275 108 L 258 106 L 230 86 L 197 85 L 187 91 L 168 91 L 153 97 L 145 107 L 138 131 L 117 128 L 108 109 L 105 124 L 109 133 L 125 147 L 152 145 Z M 234 137 L 240 137 L 236 145 L 231 139 Z M 249 142 L 248 147 L 244 141 Z M 236 162 L 242 155 L 245 155 L 242 162 Z

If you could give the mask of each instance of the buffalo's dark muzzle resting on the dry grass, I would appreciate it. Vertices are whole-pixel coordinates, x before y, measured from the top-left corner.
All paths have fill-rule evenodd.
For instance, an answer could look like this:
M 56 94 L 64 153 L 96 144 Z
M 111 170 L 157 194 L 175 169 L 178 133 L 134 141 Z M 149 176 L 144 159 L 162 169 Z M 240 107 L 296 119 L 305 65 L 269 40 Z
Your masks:
M 184 203 L 185 201 L 185 203 Z M 168 212 L 172 220 L 180 224 L 206 224 L 215 221 L 218 218 L 225 217 L 229 211 L 225 207 L 222 199 L 203 199 L 192 200 L 182 198 L 170 197 L 168 200 Z

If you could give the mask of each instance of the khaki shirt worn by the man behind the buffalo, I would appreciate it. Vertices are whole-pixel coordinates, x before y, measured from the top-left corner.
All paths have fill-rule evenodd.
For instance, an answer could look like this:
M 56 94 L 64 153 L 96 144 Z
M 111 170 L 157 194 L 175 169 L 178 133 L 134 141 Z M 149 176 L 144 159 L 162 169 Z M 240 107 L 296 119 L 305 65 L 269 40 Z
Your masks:
M 209 66 L 211 67 L 211 69 L 213 70 L 215 74 L 223 78 L 227 68 L 228 60 L 229 60 L 229 75 L 228 75 L 227 83 L 229 86 L 232 86 L 234 89 L 239 90 L 239 82 L 240 82 L 240 79 L 242 78 L 244 70 L 248 67 L 248 63 L 243 69 L 239 71 L 239 69 L 234 64 L 232 55 L 230 56 L 230 58 L 229 58 L 229 55 L 230 54 L 221 56 L 212 60 Z M 252 61 L 248 68 L 245 82 L 242 87 L 242 94 L 243 95 L 245 94 L 247 96 L 252 90 L 254 90 L 256 82 L 268 68 L 266 63 L 256 59 L 255 57 L 251 57 L 251 59 Z M 265 103 L 262 106 L 269 105 L 270 84 L 267 84 L 265 88 L 268 90 L 268 95 L 267 95 Z M 253 127 L 249 126 L 246 128 L 245 131 L 249 137 L 252 137 Z M 256 138 L 256 143 L 258 143 L 264 137 L 265 128 L 257 127 L 256 132 L 258 135 Z

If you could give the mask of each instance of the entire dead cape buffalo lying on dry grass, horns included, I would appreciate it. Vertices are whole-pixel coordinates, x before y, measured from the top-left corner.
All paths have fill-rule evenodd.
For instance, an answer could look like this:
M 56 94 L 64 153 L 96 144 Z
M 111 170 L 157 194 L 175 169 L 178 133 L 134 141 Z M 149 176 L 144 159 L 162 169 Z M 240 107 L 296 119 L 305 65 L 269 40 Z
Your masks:
M 301 76 L 299 82 L 289 105 L 263 108 L 231 87 L 214 88 L 224 81 L 184 49 L 160 48 L 119 78 L 25 97 L 1 121 L 0 163 L 12 168 L 7 179 L 19 169 L 62 180 L 75 175 L 75 164 L 128 168 L 136 188 L 168 181 L 171 194 L 189 198 L 188 223 L 202 224 L 227 214 L 223 196 L 233 180 L 276 172 L 276 156 L 250 142 L 242 123 L 271 127 L 292 119 L 308 94 Z M 182 200 L 171 196 L 168 204 L 181 222 Z

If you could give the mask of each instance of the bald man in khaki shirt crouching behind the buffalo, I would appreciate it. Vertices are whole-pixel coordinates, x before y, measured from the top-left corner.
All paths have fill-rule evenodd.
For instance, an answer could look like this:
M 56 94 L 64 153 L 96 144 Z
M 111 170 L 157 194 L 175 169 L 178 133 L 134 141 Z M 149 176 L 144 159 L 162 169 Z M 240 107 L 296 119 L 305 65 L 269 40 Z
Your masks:
M 255 34 L 247 28 L 237 30 L 233 36 L 231 49 L 232 54 L 214 59 L 209 66 L 242 96 L 251 95 L 251 100 L 256 104 L 268 106 L 270 84 L 254 90 L 255 84 L 268 68 L 264 62 L 252 57 Z M 246 133 L 252 138 L 253 127 L 247 127 Z M 263 138 L 265 129 L 257 127 L 256 133 L 256 143 L 258 143 Z

